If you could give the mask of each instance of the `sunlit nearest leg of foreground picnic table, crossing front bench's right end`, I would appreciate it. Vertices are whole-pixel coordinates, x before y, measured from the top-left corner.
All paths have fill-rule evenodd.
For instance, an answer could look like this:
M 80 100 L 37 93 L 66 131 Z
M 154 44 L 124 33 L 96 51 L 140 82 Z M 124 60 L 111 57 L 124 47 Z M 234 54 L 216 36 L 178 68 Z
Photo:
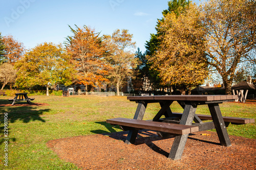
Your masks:
M 192 125 L 195 112 L 197 106 L 190 104 L 186 104 L 184 107 L 184 111 L 180 120 L 181 125 Z M 180 159 L 185 148 L 185 144 L 187 141 L 188 134 L 176 136 L 172 145 L 172 149 L 170 150 L 168 158 L 173 160 Z

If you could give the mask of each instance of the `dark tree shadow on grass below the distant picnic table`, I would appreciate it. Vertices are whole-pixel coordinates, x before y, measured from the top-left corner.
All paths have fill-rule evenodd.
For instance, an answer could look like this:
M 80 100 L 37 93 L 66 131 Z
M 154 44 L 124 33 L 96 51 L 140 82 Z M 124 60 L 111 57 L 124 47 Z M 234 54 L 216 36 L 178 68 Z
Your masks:
M 2 102 L 3 100 L 0 100 Z M 2 103 L 3 104 L 3 103 Z M 8 104 L 8 103 L 7 103 Z M 9 123 L 15 123 L 16 121 L 22 121 L 23 123 L 29 123 L 39 120 L 40 122 L 46 122 L 40 115 L 45 112 L 49 112 L 51 109 L 38 110 L 35 106 L 1 106 L 0 107 L 0 135 L 4 136 L 4 139 L 0 140 L 2 144 L 6 139 L 15 141 L 16 138 L 9 138 L 12 127 Z

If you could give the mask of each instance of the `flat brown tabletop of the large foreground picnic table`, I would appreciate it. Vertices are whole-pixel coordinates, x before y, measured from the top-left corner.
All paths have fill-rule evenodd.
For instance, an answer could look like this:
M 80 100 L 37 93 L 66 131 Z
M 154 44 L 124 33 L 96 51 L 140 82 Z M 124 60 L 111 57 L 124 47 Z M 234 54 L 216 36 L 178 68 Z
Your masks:
M 238 95 L 148 95 L 127 96 L 127 100 L 171 100 L 171 101 L 226 101 L 235 100 Z

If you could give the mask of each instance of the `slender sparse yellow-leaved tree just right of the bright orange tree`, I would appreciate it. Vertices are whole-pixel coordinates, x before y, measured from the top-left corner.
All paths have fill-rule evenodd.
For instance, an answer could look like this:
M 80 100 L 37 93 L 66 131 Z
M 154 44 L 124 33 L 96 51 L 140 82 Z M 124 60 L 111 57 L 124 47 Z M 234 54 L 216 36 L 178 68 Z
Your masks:
M 132 42 L 133 35 L 128 30 L 115 30 L 111 36 L 105 36 L 109 39 L 109 55 L 106 57 L 111 70 L 109 78 L 115 84 L 117 95 L 120 95 L 120 87 L 127 83 L 128 78 L 133 77 L 132 68 L 136 65 L 137 60 L 133 50 L 135 42 Z

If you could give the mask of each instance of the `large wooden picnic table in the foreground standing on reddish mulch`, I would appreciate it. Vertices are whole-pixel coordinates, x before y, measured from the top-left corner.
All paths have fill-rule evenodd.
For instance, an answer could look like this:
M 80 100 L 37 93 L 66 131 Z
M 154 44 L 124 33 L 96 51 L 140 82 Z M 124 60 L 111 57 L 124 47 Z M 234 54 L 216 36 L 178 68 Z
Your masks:
M 231 142 L 226 127 L 230 123 L 236 125 L 254 123 L 254 119 L 250 118 L 222 116 L 219 104 L 232 102 L 237 98 L 237 95 L 128 96 L 127 100 L 138 103 L 134 118 L 112 118 L 106 120 L 106 123 L 119 125 L 124 131 L 129 130 L 125 140 L 127 144 L 135 143 L 140 129 L 158 131 L 163 137 L 169 134 L 175 135 L 168 158 L 176 160 L 182 156 L 189 133 L 216 129 L 220 144 L 229 147 Z M 172 112 L 170 105 L 174 101 L 184 109 L 183 113 Z M 149 103 L 159 103 L 161 109 L 153 120 L 142 120 Z M 199 105 L 208 105 L 210 115 L 196 114 Z M 212 120 L 212 122 L 202 120 Z

